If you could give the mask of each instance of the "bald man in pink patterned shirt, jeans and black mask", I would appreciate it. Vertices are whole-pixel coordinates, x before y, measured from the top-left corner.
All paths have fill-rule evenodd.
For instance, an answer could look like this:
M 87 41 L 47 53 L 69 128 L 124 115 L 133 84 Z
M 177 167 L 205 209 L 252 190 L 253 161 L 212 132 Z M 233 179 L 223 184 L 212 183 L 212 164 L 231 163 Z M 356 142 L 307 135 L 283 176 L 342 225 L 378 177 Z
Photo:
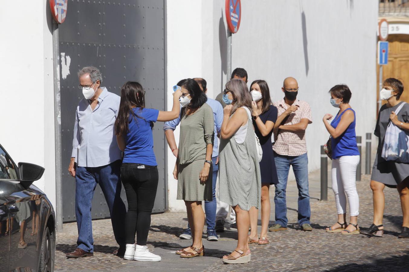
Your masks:
M 284 79 L 281 90 L 285 94 L 284 99 L 273 103 L 278 109 L 278 118 L 274 125 L 273 150 L 279 183 L 275 184 L 274 196 L 276 223 L 269 230 L 277 232 L 287 229 L 285 190 L 291 165 L 298 187 L 298 223 L 304 231 L 311 231 L 305 138 L 305 130 L 308 124 L 312 123 L 311 108 L 307 102 L 297 99 L 298 83 L 294 78 Z

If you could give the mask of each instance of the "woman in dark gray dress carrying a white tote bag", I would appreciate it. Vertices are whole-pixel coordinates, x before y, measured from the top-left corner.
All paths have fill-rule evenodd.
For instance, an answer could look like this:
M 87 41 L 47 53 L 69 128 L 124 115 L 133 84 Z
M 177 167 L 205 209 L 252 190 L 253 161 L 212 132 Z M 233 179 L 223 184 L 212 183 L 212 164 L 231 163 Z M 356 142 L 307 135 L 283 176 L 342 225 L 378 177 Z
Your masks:
M 378 152 L 372 168 L 371 189 L 373 193 L 373 224 L 368 229 L 361 229 L 362 234 L 368 236 L 382 236 L 383 211 L 385 208 L 385 186 L 397 188 L 402 206 L 403 223 L 400 238 L 409 238 L 409 164 L 386 161 L 381 157 L 382 146 L 389 122 L 402 130 L 409 130 L 409 104 L 400 101 L 403 84 L 398 79 L 389 78 L 383 83 L 380 98 L 388 103 L 384 104 L 378 114 L 375 126 L 375 136 L 379 137 Z M 399 112 L 398 108 L 401 107 Z

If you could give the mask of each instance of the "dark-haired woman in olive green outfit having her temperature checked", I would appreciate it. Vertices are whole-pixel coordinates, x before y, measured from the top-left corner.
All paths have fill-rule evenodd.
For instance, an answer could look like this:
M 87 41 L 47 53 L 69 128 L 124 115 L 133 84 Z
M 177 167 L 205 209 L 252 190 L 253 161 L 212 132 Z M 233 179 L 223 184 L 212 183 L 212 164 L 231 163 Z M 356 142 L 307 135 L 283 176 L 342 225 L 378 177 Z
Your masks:
M 206 104 L 207 97 L 193 79 L 187 79 L 180 86 L 181 119 L 179 151 L 173 176 L 178 180 L 178 200 L 184 200 L 193 244 L 178 250 L 183 258 L 203 256 L 202 245 L 205 214 L 202 201 L 211 201 L 212 161 L 214 141 L 213 110 Z

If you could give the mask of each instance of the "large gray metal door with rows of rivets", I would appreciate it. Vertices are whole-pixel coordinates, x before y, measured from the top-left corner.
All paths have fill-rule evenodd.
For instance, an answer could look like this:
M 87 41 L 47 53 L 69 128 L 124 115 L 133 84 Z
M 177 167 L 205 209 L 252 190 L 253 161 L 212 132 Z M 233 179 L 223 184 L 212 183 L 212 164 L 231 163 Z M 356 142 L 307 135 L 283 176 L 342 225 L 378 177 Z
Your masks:
M 101 70 L 102 83 L 120 95 L 126 81 L 146 91 L 146 107 L 165 110 L 164 0 L 70 0 L 59 26 L 63 222 L 75 221 L 75 180 L 67 172 L 72 152 L 76 106 L 82 99 L 77 72 L 84 66 Z M 162 124 L 153 127 L 159 184 L 153 212 L 167 206 L 165 140 Z M 126 203 L 124 189 L 121 198 Z M 127 204 L 127 203 L 126 203 Z M 92 218 L 110 216 L 99 186 L 92 200 Z

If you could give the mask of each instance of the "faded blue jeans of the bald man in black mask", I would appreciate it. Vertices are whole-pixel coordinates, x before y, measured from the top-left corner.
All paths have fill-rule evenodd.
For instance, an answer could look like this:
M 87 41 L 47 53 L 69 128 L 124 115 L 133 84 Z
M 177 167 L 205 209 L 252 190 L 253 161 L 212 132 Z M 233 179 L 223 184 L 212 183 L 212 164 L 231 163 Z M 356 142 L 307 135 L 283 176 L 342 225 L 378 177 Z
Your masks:
M 308 192 L 307 153 L 299 156 L 283 156 L 274 153 L 274 162 L 276 163 L 277 176 L 279 178 L 279 183 L 274 184 L 276 187 L 274 196 L 276 224 L 287 227 L 288 223 L 285 191 L 290 165 L 292 165 L 298 188 L 298 223 L 300 226 L 305 223 L 310 224 L 311 209 L 310 194 Z

